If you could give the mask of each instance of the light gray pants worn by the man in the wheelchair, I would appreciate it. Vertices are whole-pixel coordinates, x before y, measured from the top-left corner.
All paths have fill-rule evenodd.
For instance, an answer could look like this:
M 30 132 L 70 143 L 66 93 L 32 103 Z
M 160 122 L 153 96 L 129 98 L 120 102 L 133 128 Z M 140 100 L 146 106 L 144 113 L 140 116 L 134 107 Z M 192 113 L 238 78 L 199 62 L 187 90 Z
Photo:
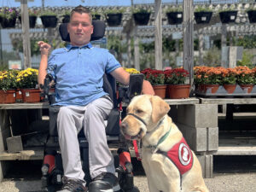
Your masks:
M 108 148 L 104 123 L 112 108 L 113 103 L 106 98 L 96 99 L 84 107 L 60 108 L 57 128 L 66 177 L 84 180 L 78 141 L 78 133 L 83 126 L 89 143 L 90 177 L 102 172 L 114 173 L 113 155 Z

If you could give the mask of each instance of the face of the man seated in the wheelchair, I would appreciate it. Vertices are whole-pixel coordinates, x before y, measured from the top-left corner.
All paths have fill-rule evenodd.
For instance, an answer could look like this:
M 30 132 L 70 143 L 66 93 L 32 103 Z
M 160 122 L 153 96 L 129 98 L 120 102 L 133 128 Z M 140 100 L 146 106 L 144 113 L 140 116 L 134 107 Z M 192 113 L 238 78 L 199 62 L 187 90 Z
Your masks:
M 73 13 L 67 26 L 70 36 L 70 43 L 75 46 L 82 46 L 90 42 L 90 35 L 93 32 L 90 16 L 88 14 Z

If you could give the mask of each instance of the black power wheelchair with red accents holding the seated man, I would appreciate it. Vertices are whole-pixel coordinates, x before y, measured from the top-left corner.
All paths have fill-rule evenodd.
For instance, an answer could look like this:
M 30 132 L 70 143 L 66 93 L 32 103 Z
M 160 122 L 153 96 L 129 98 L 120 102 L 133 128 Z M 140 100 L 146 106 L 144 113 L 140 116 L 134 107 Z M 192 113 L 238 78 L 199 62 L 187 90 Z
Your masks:
M 105 23 L 102 20 L 93 20 L 94 33 L 91 36 L 91 40 L 100 39 L 104 36 Z M 64 41 L 69 41 L 69 35 L 67 33 L 67 24 L 61 24 L 59 31 L 61 38 Z M 46 75 L 44 79 L 44 98 L 49 101 L 49 104 L 55 102 L 55 93 L 49 89 L 49 83 L 52 81 L 50 74 Z M 122 102 L 130 102 L 133 96 L 140 94 L 142 91 L 143 75 L 134 74 L 131 75 L 130 84 L 126 87 L 119 88 L 119 94 L 116 91 L 116 81 L 110 74 L 104 74 L 103 76 L 103 90 L 108 93 L 113 101 L 113 109 L 108 115 L 108 123 L 106 126 L 106 134 L 108 143 L 115 143 L 120 146 L 117 154 L 114 157 L 114 166 L 116 167 L 116 175 L 118 175 L 119 185 L 124 192 L 137 192 L 137 187 L 133 184 L 133 173 L 131 165 L 131 155 L 128 150 L 128 144 L 124 141 L 121 142 L 119 136 L 119 123 L 121 120 Z M 47 191 L 55 191 L 60 189 L 63 176 L 61 152 L 58 144 L 58 133 L 56 129 L 56 119 L 60 106 L 49 107 L 49 137 L 44 148 L 44 163 L 42 166 L 42 188 Z M 88 159 L 88 143 L 84 137 L 84 131 L 79 132 L 79 146 L 81 160 L 83 162 L 83 170 L 85 172 L 85 181 L 87 184 L 91 182 L 89 172 L 89 159 Z M 89 189 L 89 192 L 96 192 L 99 189 L 109 189 L 108 183 L 96 184 L 93 188 Z

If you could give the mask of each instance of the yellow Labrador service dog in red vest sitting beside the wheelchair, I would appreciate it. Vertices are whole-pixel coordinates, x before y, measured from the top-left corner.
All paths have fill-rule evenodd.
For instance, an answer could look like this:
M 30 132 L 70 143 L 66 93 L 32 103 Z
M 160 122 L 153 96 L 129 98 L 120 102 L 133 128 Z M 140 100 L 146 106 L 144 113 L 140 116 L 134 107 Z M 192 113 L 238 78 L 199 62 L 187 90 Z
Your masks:
M 126 139 L 142 139 L 142 163 L 150 192 L 209 191 L 201 165 L 168 116 L 159 96 L 135 96 L 120 128 Z

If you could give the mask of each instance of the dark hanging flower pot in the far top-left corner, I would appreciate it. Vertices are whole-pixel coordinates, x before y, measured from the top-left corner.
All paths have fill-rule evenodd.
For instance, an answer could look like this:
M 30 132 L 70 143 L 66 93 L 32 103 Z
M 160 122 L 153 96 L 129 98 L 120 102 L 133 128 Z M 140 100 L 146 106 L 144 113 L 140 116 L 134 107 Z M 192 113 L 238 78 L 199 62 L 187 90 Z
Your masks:
M 18 12 L 15 8 L 1 8 L 0 20 L 3 28 L 15 27 Z

